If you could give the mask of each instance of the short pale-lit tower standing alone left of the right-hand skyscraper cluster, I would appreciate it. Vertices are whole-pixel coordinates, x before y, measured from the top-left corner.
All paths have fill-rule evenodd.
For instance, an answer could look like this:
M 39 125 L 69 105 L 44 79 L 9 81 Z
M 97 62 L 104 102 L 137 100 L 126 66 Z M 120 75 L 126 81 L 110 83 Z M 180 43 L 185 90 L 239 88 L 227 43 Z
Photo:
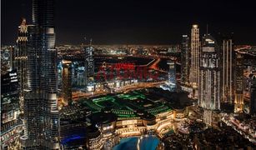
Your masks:
M 175 62 L 168 61 L 167 64 L 169 65 L 168 85 L 169 85 L 170 91 L 175 92 L 177 88 Z

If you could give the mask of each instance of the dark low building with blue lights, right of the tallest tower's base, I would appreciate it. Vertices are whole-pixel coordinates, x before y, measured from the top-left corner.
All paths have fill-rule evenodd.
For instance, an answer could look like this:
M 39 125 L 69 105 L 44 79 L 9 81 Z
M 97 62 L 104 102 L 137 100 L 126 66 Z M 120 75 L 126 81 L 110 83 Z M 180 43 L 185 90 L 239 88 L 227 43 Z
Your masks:
M 60 144 L 63 149 L 85 149 L 91 111 L 86 107 L 74 104 L 60 110 Z

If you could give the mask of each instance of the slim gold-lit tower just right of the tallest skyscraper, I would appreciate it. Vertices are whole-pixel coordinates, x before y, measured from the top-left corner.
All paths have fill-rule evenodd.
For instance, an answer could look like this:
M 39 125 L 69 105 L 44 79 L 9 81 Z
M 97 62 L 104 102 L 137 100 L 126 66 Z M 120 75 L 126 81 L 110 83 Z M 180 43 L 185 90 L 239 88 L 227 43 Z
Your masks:
M 72 104 L 72 62 L 63 60 L 63 102 Z

